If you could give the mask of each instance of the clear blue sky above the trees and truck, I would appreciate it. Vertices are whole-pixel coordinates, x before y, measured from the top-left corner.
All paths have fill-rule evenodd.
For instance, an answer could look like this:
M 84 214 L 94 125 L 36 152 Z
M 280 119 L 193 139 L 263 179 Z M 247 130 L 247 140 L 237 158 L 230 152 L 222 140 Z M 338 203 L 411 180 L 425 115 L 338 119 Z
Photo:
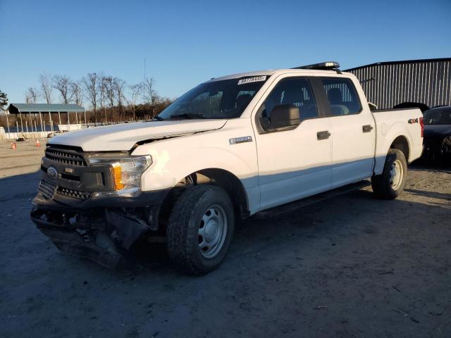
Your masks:
M 248 70 L 450 57 L 450 13 L 450 0 L 0 0 L 0 90 L 23 102 L 44 72 L 134 84 L 144 57 L 169 97 Z

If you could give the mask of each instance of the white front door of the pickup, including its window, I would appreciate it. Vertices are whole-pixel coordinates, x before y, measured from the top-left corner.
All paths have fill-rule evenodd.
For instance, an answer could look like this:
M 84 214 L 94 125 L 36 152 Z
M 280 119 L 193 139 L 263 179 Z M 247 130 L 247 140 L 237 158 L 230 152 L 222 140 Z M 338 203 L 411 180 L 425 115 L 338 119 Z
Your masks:
M 301 123 L 291 130 L 264 130 L 261 117 L 271 120 L 271 110 L 280 104 L 297 106 Z M 307 77 L 280 80 L 259 107 L 254 127 L 261 210 L 330 189 L 330 118 L 319 111 Z

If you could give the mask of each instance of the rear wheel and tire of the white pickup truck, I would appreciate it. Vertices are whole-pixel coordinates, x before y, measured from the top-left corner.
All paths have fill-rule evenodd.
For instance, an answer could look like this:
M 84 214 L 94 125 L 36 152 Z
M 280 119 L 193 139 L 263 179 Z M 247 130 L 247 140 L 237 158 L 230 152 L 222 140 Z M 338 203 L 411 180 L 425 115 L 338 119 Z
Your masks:
M 404 190 L 407 177 L 407 161 L 404 153 L 390 149 L 381 175 L 371 178 L 373 192 L 380 199 L 395 199 Z

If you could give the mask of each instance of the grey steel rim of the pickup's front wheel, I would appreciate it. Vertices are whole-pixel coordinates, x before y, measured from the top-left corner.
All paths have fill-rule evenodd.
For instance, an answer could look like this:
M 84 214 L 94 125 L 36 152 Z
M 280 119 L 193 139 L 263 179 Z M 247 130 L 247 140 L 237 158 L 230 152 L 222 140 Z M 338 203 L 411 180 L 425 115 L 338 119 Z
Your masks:
M 205 258 L 213 258 L 221 251 L 227 234 L 227 215 L 221 206 L 210 206 L 199 223 L 199 250 Z

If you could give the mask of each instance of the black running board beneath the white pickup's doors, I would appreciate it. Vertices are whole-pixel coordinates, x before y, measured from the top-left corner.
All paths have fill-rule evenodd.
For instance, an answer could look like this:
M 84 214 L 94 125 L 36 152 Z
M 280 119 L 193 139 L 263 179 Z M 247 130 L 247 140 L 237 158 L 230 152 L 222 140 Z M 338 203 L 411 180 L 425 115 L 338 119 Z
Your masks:
M 284 213 L 290 213 L 291 211 L 295 211 L 299 208 L 303 208 L 304 206 L 309 206 L 310 204 L 315 204 L 315 203 L 324 201 L 325 199 L 330 199 L 335 196 L 347 194 L 348 192 L 362 189 L 364 187 L 368 187 L 369 185 L 371 185 L 371 182 L 369 180 L 363 180 L 360 182 L 348 184 L 348 185 L 345 185 L 344 187 L 329 190 L 328 192 L 321 192 L 321 194 L 306 197 L 305 199 L 299 199 L 298 201 L 290 202 L 288 204 L 283 204 L 282 206 L 275 206 L 274 208 L 260 211 L 259 213 L 256 213 L 254 215 L 254 218 L 258 218 L 258 219 L 269 218 L 269 217 L 282 215 Z

